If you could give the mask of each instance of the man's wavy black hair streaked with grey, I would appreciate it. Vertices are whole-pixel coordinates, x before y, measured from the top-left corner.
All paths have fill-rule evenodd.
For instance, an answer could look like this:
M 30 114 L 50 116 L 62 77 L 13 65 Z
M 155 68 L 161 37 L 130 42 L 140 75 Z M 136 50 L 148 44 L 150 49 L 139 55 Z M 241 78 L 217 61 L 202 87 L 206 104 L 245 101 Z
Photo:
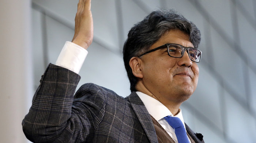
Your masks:
M 173 9 L 153 11 L 129 31 L 123 47 L 123 59 L 131 91 L 136 91 L 138 79 L 132 74 L 130 59 L 148 51 L 151 45 L 171 29 L 178 29 L 189 35 L 189 41 L 195 48 L 198 48 L 201 41 L 200 30 L 194 23 Z

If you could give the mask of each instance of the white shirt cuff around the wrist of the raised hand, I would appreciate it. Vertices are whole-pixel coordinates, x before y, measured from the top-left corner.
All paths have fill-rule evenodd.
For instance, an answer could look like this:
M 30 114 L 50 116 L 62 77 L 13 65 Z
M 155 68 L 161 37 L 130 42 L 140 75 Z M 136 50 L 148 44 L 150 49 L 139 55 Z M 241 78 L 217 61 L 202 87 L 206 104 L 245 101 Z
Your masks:
M 75 43 L 66 41 L 56 61 L 56 65 L 67 68 L 78 74 L 87 54 L 88 51 L 86 49 Z

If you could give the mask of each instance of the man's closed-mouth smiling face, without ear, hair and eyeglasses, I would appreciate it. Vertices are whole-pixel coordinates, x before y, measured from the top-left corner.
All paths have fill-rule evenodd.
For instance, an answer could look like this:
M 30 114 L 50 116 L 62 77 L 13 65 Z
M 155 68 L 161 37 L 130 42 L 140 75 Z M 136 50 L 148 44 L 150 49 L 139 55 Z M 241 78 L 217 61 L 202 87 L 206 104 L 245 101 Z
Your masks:
M 171 43 L 193 47 L 189 36 L 180 30 L 170 30 L 154 43 L 150 49 Z M 182 103 L 195 91 L 199 76 L 197 64 L 189 59 L 186 51 L 181 58 L 170 57 L 167 48 L 148 53 L 141 57 L 143 78 L 146 89 L 160 102 Z

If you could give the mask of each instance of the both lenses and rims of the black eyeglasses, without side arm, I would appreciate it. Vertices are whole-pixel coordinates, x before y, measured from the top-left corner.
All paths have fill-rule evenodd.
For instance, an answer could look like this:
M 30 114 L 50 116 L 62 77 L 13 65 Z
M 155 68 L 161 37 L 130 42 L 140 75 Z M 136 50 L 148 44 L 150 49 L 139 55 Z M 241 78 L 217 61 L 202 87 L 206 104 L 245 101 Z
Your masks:
M 186 47 L 183 48 L 181 45 L 170 44 L 168 52 L 172 57 L 181 57 L 185 52 L 185 49 L 188 49 L 189 58 L 192 61 L 195 61 L 195 62 L 200 61 L 201 52 L 196 48 L 186 48 Z

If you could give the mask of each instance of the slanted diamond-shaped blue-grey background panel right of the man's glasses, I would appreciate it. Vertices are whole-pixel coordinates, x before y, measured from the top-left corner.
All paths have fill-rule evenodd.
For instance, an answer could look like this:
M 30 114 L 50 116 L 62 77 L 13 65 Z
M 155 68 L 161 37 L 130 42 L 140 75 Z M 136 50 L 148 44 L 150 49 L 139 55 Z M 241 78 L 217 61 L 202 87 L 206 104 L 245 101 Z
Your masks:
M 228 87 L 245 100 L 242 72 L 242 64 L 244 63 L 240 56 L 234 52 L 234 49 L 214 29 L 211 30 L 211 38 L 215 71 L 221 75 Z

